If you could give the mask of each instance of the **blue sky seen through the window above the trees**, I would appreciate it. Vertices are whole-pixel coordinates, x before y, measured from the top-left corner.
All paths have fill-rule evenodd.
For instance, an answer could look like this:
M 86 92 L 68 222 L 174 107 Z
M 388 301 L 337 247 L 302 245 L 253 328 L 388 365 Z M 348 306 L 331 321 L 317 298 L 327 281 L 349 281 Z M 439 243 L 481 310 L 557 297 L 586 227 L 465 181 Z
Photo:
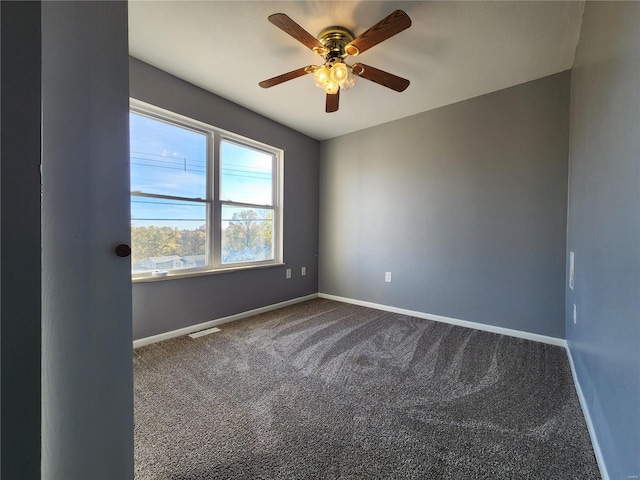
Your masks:
M 131 191 L 206 198 L 207 136 L 130 114 Z M 230 141 L 221 143 L 221 199 L 271 203 L 272 156 Z M 195 229 L 206 222 L 203 203 L 132 197 L 132 226 Z

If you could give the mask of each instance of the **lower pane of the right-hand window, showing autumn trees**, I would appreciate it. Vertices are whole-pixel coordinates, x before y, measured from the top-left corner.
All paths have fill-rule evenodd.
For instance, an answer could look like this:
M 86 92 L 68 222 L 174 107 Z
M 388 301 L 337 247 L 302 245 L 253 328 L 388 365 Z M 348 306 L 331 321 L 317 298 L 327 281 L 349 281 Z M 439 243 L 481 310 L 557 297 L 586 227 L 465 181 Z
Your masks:
M 222 263 L 273 260 L 273 209 L 222 206 Z

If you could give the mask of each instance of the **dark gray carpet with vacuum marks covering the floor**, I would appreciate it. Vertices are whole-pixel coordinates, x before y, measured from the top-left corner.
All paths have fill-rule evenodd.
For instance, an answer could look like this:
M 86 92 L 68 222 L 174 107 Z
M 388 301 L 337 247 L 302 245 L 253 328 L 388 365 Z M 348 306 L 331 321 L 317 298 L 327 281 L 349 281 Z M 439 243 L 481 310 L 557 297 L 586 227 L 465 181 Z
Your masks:
M 600 478 L 560 347 L 317 299 L 134 354 L 136 479 Z

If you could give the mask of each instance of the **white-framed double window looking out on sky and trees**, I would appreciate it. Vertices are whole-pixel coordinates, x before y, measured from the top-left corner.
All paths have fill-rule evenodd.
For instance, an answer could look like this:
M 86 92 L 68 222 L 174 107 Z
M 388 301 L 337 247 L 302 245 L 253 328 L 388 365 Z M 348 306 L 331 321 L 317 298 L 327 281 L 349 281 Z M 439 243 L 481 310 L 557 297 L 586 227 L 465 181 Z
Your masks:
M 132 100 L 134 277 L 282 261 L 282 151 Z

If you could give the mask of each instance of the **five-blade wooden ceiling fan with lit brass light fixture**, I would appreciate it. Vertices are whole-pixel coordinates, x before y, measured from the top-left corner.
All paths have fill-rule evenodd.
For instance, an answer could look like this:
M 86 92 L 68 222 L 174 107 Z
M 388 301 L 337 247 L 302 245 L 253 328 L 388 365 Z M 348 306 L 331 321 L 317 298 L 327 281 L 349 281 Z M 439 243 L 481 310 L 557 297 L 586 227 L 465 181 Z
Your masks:
M 316 38 L 284 13 L 270 15 L 269 21 L 320 55 L 324 59 L 324 64 L 308 65 L 263 80 L 258 84 L 262 88 L 273 87 L 313 73 L 316 86 L 322 88 L 327 94 L 325 110 L 330 113 L 338 110 L 340 90 L 347 90 L 353 86 L 355 83 L 354 75 L 396 92 L 402 92 L 409 86 L 409 80 L 406 78 L 398 77 L 364 63 L 358 62 L 348 65 L 345 62 L 347 56 L 355 57 L 409 28 L 411 19 L 402 10 L 391 13 L 357 37 L 351 30 L 336 25 L 323 29 Z

